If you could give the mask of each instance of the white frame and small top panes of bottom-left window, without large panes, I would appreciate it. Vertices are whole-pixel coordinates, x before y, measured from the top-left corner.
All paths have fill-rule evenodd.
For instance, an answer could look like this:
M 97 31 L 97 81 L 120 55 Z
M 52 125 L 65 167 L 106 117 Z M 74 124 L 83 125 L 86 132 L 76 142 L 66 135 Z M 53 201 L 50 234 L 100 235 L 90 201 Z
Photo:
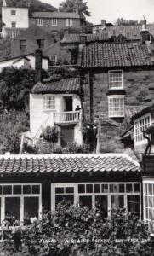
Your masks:
M 20 192 L 15 192 L 15 189 L 20 188 Z M 26 190 L 28 189 L 28 193 L 26 193 Z M 39 192 L 34 192 L 35 189 L 39 188 Z M 8 192 L 7 192 L 8 189 Z M 38 200 L 38 209 L 37 209 L 37 215 L 38 218 L 41 218 L 42 215 L 42 184 L 41 183 L 5 183 L 0 184 L 0 222 L 3 223 L 6 216 L 6 201 L 7 199 L 20 199 L 20 219 L 18 220 L 21 225 L 24 224 L 24 218 L 25 218 L 25 209 L 24 204 L 25 200 L 28 198 L 37 198 Z M 9 214 L 11 216 L 11 214 Z M 32 217 L 32 216 L 31 216 Z

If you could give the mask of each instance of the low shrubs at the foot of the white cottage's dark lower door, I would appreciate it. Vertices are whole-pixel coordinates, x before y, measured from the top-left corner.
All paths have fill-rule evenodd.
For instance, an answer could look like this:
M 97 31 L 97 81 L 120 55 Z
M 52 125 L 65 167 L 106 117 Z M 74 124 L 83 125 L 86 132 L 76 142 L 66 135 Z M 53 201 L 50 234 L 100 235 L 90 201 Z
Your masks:
M 67 143 L 63 150 L 65 154 L 88 154 L 90 153 L 90 147 L 88 144 L 77 145 L 77 143 Z

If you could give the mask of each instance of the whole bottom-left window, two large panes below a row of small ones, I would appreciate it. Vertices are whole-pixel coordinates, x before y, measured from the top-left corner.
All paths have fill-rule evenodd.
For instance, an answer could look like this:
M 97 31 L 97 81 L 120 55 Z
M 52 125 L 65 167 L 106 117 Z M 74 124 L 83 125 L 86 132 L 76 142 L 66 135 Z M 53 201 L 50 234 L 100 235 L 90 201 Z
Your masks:
M 41 217 L 41 184 L 1 184 L 0 220 L 14 216 L 19 222 Z

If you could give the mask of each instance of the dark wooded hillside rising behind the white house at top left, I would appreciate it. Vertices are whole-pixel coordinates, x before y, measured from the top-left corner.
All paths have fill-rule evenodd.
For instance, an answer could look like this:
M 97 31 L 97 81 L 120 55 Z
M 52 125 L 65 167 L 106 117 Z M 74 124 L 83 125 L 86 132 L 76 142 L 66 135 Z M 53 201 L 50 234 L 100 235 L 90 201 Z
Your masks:
M 42 3 L 39 0 L 6 0 L 8 6 L 15 6 L 15 7 L 26 7 L 28 2 L 31 3 L 29 8 L 30 16 L 31 13 L 34 11 L 55 11 L 56 9 L 54 6 L 48 3 Z M 2 14 L 1 7 L 3 5 L 3 0 L 0 0 L 0 17 Z

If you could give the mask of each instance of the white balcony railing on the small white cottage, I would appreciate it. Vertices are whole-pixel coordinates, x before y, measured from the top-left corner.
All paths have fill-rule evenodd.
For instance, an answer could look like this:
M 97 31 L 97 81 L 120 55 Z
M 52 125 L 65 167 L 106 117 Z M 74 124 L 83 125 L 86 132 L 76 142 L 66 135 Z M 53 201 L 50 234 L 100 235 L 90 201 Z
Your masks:
M 78 123 L 81 119 L 82 112 L 79 111 L 68 111 L 54 113 L 54 123 L 56 124 L 67 124 L 67 123 Z

